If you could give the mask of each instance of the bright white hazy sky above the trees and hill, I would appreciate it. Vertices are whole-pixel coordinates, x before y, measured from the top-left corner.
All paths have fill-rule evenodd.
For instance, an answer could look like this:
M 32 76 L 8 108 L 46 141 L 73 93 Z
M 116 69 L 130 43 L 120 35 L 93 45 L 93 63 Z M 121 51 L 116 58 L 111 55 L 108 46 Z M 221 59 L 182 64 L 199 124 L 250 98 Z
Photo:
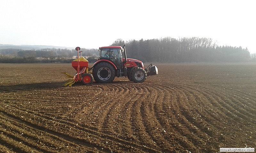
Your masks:
M 0 0 L 0 44 L 98 48 L 114 40 L 207 37 L 256 53 L 254 1 Z

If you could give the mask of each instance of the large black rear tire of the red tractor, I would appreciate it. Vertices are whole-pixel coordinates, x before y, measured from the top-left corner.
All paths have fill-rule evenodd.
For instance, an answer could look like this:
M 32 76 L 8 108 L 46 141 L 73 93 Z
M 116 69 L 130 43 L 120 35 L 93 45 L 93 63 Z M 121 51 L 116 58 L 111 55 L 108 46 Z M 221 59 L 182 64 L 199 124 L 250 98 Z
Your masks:
M 111 83 L 116 77 L 116 70 L 107 62 L 100 62 L 92 69 L 92 75 L 97 83 Z

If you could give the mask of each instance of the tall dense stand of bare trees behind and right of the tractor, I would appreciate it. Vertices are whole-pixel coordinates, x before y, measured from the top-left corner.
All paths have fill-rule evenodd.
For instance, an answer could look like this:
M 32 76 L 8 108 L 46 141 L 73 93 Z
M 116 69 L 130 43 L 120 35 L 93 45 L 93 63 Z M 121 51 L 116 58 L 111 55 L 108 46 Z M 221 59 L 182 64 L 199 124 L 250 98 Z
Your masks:
M 127 56 L 144 62 L 255 62 L 247 48 L 218 46 L 210 38 L 170 37 L 151 40 L 117 39 L 112 46 L 123 46 Z

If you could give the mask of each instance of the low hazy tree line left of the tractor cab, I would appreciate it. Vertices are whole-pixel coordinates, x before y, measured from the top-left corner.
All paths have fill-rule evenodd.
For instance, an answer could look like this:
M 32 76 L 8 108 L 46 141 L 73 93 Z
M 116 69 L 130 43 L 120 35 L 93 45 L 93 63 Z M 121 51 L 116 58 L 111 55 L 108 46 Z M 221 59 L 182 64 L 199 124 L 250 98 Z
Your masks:
M 95 62 L 97 49 L 81 48 L 82 56 L 89 62 Z M 80 55 L 80 54 L 79 54 Z M 75 49 L 44 48 L 40 50 L 0 49 L 0 63 L 38 63 L 38 62 L 71 62 L 77 57 Z

